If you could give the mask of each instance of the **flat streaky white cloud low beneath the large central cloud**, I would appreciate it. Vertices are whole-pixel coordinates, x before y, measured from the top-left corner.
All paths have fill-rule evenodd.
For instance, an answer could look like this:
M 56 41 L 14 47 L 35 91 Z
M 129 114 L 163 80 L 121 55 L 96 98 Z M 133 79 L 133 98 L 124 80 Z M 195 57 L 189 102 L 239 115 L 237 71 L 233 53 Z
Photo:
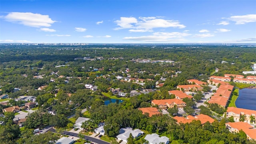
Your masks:
M 123 39 L 144 42 L 183 42 L 186 41 L 183 37 L 189 35 L 191 34 L 188 34 L 186 32 L 154 32 L 153 35 L 150 36 L 124 37 Z

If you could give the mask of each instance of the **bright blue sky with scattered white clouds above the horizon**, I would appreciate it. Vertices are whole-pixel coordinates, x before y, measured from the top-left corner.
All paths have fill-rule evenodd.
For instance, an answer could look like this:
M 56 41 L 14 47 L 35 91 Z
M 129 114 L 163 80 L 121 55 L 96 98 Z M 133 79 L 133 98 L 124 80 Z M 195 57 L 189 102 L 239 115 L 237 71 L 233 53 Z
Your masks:
M 0 0 L 0 42 L 256 43 L 256 1 Z

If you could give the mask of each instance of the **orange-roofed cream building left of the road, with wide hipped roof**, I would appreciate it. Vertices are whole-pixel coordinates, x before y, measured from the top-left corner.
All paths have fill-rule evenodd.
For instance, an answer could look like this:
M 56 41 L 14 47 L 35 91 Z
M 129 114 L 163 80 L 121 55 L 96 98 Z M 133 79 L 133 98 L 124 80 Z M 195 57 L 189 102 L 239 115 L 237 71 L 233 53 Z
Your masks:
M 184 108 L 186 107 L 186 102 L 183 102 L 182 100 L 174 98 L 174 99 L 165 99 L 165 100 L 152 100 L 151 105 L 152 106 L 157 105 L 159 109 L 173 108 L 175 105 L 178 108 Z

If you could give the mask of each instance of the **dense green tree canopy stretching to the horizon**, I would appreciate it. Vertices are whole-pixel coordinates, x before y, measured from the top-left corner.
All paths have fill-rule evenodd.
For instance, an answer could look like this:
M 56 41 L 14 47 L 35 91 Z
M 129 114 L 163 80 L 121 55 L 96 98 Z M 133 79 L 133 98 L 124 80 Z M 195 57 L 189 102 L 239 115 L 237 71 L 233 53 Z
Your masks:
M 86 60 L 84 57 L 95 60 Z M 174 63 L 131 61 L 136 59 L 173 60 Z M 207 122 L 204 125 L 196 120 L 190 124 L 177 124 L 172 118 L 173 114 L 177 113 L 175 110 L 168 110 L 171 115 L 159 114 L 149 117 L 137 109 L 150 106 L 148 102 L 153 99 L 173 98 L 168 94 L 168 90 L 176 90 L 176 86 L 188 84 L 189 79 L 206 82 L 212 75 L 242 74 L 242 71 L 251 71 L 250 66 L 255 62 L 256 48 L 239 46 L 1 44 L 0 95 L 8 94 L 9 98 L 13 99 L 10 99 L 7 105 L 0 104 L 0 114 L 5 116 L 0 117 L 0 121 L 5 122 L 5 125 L 0 126 L 0 140 L 3 144 L 52 143 L 57 139 L 56 134 L 48 132 L 34 135 L 33 130 L 49 125 L 58 130 L 70 128 L 73 123 L 67 117 L 74 114 L 74 117 L 78 118 L 82 116 L 81 110 L 87 108 L 87 117 L 90 120 L 83 128 L 93 131 L 98 123 L 105 122 L 104 129 L 108 137 L 118 135 L 120 128 L 131 127 L 168 136 L 170 142 L 175 140 L 179 144 L 255 144 L 256 141 L 247 140 L 243 131 L 230 133 L 226 129 L 225 123 L 232 122 L 232 119 L 216 119 L 212 124 Z M 126 70 L 129 71 L 125 72 Z M 142 86 L 116 78 L 128 75 L 150 80 Z M 162 81 L 161 78 L 166 80 Z M 156 88 L 156 82 L 164 82 L 163 87 L 157 88 L 159 91 L 127 96 L 127 100 L 122 103 L 104 105 L 104 100 L 109 99 L 106 94 L 112 95 L 110 88 L 130 92 Z M 86 89 L 84 84 L 98 86 L 98 90 L 92 92 Z M 47 87 L 37 90 L 44 85 Z M 20 90 L 14 92 L 14 88 Z M 22 106 L 25 102 L 14 100 L 19 96 L 35 96 L 38 103 L 38 110 L 28 114 L 22 130 L 13 122 L 14 113 L 2 112 L 2 109 L 9 106 Z M 184 101 L 187 106 L 195 105 L 193 100 Z M 209 108 L 200 109 L 202 113 L 212 116 Z M 56 115 L 49 114 L 48 110 L 55 111 Z M 142 139 L 132 140 L 134 144 L 144 142 Z

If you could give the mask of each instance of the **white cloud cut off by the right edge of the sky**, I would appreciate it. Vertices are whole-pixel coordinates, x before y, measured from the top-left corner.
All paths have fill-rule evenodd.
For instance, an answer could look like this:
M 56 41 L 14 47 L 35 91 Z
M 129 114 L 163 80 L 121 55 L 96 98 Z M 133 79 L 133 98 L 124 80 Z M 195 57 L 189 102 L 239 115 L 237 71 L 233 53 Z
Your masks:
M 247 14 L 244 16 L 231 16 L 228 20 L 236 22 L 236 24 L 246 24 L 248 22 L 256 22 L 256 14 Z

